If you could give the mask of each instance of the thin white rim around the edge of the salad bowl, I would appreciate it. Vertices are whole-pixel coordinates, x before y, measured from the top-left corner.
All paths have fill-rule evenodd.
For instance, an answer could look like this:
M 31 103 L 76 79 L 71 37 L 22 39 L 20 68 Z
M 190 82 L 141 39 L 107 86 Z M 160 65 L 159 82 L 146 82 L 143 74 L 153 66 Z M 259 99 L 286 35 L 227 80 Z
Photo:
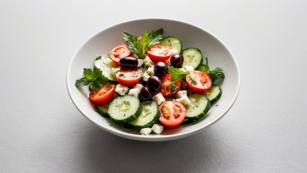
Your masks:
M 182 132 L 182 133 L 178 133 L 178 134 L 170 134 L 170 135 L 156 135 L 156 136 L 151 136 L 151 135 L 138 135 L 138 134 L 130 134 L 127 132 L 123 132 L 123 131 L 118 131 L 118 130 L 113 130 L 111 128 L 106 128 L 102 125 L 100 125 L 99 123 L 95 122 L 91 117 L 87 116 L 75 103 L 75 101 L 72 99 L 72 93 L 69 90 L 68 87 L 68 79 L 69 79 L 69 71 L 71 69 L 71 64 L 74 61 L 76 55 L 79 53 L 81 47 L 83 47 L 85 44 L 87 44 L 87 42 L 89 42 L 93 37 L 99 35 L 101 32 L 111 28 L 111 27 L 116 27 L 120 24 L 125 24 L 125 23 L 129 23 L 129 22 L 133 22 L 133 21 L 144 21 L 144 20 L 165 20 L 165 21 L 175 21 L 175 22 L 179 22 L 182 24 L 187 24 L 187 25 L 191 25 L 193 27 L 199 28 L 202 31 L 206 32 L 207 34 L 211 35 L 212 37 L 214 37 L 217 41 L 219 41 L 224 47 L 226 47 L 227 51 L 229 51 L 229 53 L 231 54 L 231 58 L 234 60 L 235 62 L 235 68 L 238 70 L 238 88 L 237 91 L 235 93 L 235 97 L 232 99 L 232 103 L 228 106 L 228 108 L 217 118 L 215 118 L 212 122 L 210 122 L 209 124 L 205 125 L 205 126 L 201 126 L 195 129 L 191 129 L 189 131 L 186 132 Z M 88 120 L 90 120 L 91 122 L 93 122 L 96 126 L 98 126 L 99 128 L 111 133 L 111 134 L 115 134 L 117 136 L 120 137 L 124 137 L 124 138 L 128 138 L 128 139 L 134 139 L 134 140 L 138 140 L 138 141 L 170 141 L 170 140 L 175 140 L 175 139 L 180 139 L 183 137 L 188 137 L 192 134 L 196 134 L 197 132 L 200 132 L 200 130 L 203 130 L 209 126 L 211 126 L 212 124 L 214 124 L 215 122 L 217 122 L 218 120 L 220 120 L 229 110 L 230 108 L 233 106 L 233 104 L 235 103 L 235 100 L 238 97 L 239 94 L 239 90 L 240 90 L 240 83 L 241 83 L 241 77 L 240 77 L 240 71 L 239 71 L 239 66 L 238 63 L 235 59 L 235 56 L 232 54 L 232 52 L 230 51 L 230 49 L 227 47 L 227 45 L 220 40 L 218 37 L 216 37 L 214 34 L 212 34 L 211 32 L 208 32 L 207 30 L 205 30 L 204 28 L 201 28 L 195 24 L 191 24 L 185 21 L 181 21 L 181 20 L 176 20 L 176 19 L 169 19 L 169 18 L 138 18 L 138 19 L 133 19 L 133 20 L 128 20 L 128 21 L 124 21 L 124 22 L 119 22 L 117 24 L 111 25 L 107 28 L 103 28 L 100 31 L 96 32 L 95 34 L 93 34 L 92 36 L 90 36 L 84 43 L 81 44 L 81 46 L 77 49 L 77 51 L 74 53 L 74 55 L 72 56 L 72 59 L 69 62 L 68 68 L 67 68 L 67 72 L 66 72 L 66 87 L 68 90 L 68 94 L 70 99 L 72 100 L 72 103 L 75 105 L 75 107 L 78 109 L 78 111 L 80 111 L 80 113 L 86 117 Z

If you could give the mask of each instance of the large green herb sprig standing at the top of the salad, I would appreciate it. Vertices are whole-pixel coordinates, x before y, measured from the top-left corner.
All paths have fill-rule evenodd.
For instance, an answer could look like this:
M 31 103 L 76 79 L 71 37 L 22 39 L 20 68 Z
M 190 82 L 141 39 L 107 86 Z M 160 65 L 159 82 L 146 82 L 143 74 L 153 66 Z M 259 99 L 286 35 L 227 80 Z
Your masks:
M 122 32 L 123 41 L 126 47 L 139 58 L 145 58 L 145 53 L 149 47 L 160 43 L 163 37 L 163 29 L 153 30 L 147 34 L 146 29 L 142 32 L 142 38 L 138 40 L 137 36 L 129 32 Z

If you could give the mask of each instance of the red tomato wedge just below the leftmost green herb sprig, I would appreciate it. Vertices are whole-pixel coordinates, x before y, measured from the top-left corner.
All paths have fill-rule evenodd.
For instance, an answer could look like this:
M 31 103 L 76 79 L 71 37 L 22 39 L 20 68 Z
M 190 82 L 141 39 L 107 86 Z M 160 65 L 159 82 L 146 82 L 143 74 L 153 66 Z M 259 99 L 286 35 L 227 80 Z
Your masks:
M 115 94 L 115 84 L 107 83 L 97 91 L 93 89 L 89 95 L 90 100 L 98 104 L 108 103 Z

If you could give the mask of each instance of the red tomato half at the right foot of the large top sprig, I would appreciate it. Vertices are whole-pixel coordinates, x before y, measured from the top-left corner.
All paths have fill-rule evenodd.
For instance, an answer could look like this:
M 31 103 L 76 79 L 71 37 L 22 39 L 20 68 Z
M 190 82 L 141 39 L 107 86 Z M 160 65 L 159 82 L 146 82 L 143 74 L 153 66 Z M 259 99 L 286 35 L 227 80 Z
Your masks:
M 153 62 L 166 61 L 172 53 L 172 49 L 159 44 L 154 44 L 147 50 L 147 55 Z

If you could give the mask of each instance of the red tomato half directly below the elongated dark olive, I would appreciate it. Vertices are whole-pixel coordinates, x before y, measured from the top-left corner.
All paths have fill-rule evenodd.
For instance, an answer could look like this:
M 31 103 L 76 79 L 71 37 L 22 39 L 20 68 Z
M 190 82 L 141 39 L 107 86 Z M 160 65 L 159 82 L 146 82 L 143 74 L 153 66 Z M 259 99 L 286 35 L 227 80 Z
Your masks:
M 132 86 L 141 81 L 142 74 L 142 70 L 139 68 L 120 68 L 120 70 L 116 72 L 115 77 L 118 83 L 125 86 Z

